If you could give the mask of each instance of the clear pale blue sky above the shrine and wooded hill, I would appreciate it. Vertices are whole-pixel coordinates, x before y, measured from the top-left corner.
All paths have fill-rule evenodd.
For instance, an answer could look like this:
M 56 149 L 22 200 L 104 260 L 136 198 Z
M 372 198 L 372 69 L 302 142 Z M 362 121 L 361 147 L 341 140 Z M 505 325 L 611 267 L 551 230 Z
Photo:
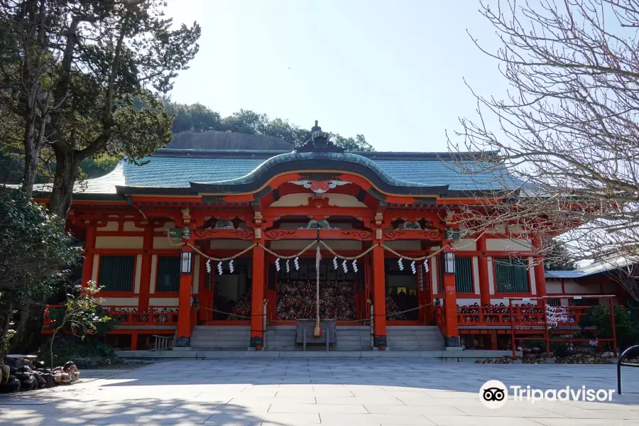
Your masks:
M 202 26 L 200 53 L 171 97 L 222 115 L 252 109 L 325 131 L 364 133 L 377 151 L 446 151 L 446 129 L 481 94 L 503 97 L 493 28 L 475 1 L 170 0 Z

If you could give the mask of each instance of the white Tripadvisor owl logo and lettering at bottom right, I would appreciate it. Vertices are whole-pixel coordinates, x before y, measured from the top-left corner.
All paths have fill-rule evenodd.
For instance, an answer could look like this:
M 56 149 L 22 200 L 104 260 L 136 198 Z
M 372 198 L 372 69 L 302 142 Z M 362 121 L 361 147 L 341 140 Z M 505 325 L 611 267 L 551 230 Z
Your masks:
M 513 400 L 528 401 L 532 404 L 542 400 L 547 401 L 586 401 L 611 402 L 614 389 L 590 389 L 586 386 L 561 389 L 537 389 L 530 386 L 508 386 L 501 381 L 490 380 L 479 388 L 479 400 L 487 408 L 501 408 L 508 402 L 508 390 Z

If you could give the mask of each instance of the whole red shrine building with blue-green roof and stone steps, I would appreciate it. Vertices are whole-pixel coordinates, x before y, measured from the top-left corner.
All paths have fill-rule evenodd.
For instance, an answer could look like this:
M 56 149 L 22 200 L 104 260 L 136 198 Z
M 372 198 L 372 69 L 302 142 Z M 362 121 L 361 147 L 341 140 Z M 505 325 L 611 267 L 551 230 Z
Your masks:
M 344 350 L 509 349 L 509 306 L 582 308 L 584 288 L 547 283 L 517 224 L 477 237 L 454 222 L 500 189 L 491 175 L 457 172 L 449 153 L 344 152 L 328 137 L 316 123 L 293 152 L 160 149 L 79 183 L 68 226 L 84 241 L 82 283 L 97 282 L 115 320 L 109 344 L 295 349 L 317 285 Z

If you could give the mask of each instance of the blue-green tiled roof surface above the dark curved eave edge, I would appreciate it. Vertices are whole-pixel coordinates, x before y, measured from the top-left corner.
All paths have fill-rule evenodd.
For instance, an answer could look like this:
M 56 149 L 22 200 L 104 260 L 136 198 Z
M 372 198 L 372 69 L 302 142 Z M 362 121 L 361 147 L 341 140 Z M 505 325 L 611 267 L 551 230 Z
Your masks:
M 146 158 L 146 165 L 121 162 L 111 173 L 91 179 L 76 187 L 75 192 L 114 194 L 120 187 L 189 188 L 197 184 L 241 185 L 259 180 L 269 168 L 286 163 L 300 169 L 312 160 L 315 165 L 326 160 L 339 168 L 364 167 L 389 185 L 401 187 L 447 186 L 452 191 L 498 190 L 495 175 L 473 176 L 460 173 L 449 153 L 395 152 L 284 152 L 284 151 L 192 151 L 158 150 Z M 443 159 L 443 160 L 442 160 Z M 339 162 L 339 163 L 337 163 Z M 342 164 L 344 164 L 342 168 Z M 478 185 L 479 184 L 479 185 Z M 46 191 L 45 185 L 36 190 Z

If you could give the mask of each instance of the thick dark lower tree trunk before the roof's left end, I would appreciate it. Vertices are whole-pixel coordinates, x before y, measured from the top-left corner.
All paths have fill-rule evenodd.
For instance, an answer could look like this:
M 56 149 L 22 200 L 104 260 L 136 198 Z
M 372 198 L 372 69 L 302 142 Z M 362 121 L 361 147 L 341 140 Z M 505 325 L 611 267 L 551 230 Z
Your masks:
M 77 169 L 81 158 L 73 149 L 54 145 L 53 151 L 55 151 L 55 177 L 53 178 L 49 211 L 66 220 L 71 207 L 73 186 L 77 179 Z

